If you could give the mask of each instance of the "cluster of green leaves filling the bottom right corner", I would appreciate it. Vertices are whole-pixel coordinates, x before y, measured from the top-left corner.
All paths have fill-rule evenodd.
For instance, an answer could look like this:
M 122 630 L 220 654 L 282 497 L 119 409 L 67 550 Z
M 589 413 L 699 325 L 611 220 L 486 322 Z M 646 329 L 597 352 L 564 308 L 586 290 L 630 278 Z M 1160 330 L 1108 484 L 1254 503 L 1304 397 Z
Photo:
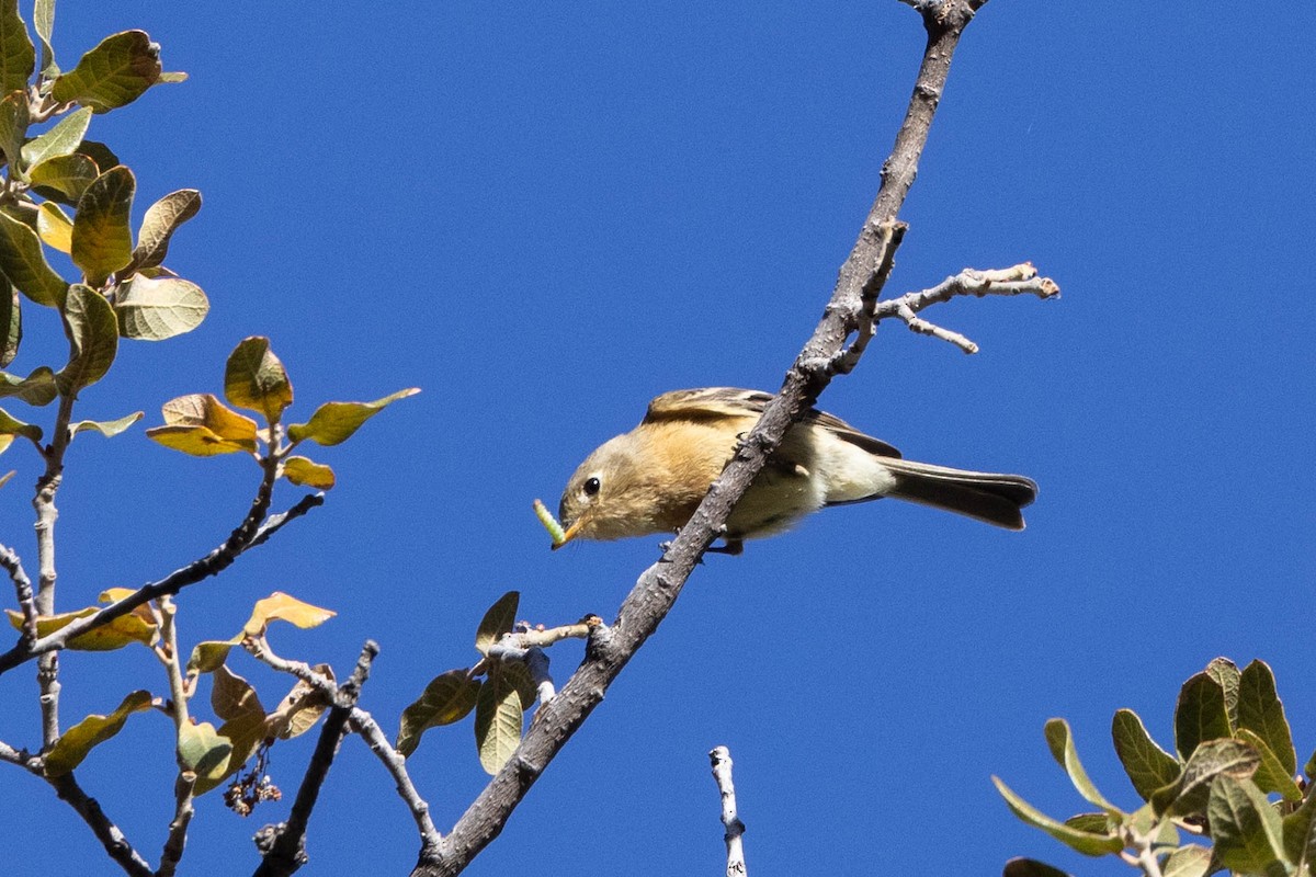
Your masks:
M 1024 822 L 1088 856 L 1117 855 L 1148 874 L 1311 877 L 1316 861 L 1316 755 L 1296 774 L 1298 755 L 1270 667 L 1242 671 L 1224 657 L 1184 682 L 1174 710 L 1174 753 L 1142 719 L 1116 711 L 1111 738 L 1134 792 L 1133 811 L 1112 805 L 1092 784 L 1063 719 L 1046 722 L 1051 756 L 1095 813 L 1054 819 L 992 777 Z M 1182 843 L 1187 832 L 1211 845 Z M 1007 877 L 1054 877 L 1055 868 L 1019 859 Z

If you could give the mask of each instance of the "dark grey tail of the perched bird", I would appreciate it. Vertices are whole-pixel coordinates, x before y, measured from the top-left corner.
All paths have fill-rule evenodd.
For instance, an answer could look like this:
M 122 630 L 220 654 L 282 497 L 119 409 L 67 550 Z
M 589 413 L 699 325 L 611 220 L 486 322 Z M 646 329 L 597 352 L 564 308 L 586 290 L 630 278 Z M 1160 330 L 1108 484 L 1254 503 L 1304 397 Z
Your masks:
M 883 458 L 895 476 L 887 496 L 954 511 L 1007 530 L 1023 530 L 1023 508 L 1037 498 L 1037 485 L 1021 475 L 967 472 L 944 465 Z

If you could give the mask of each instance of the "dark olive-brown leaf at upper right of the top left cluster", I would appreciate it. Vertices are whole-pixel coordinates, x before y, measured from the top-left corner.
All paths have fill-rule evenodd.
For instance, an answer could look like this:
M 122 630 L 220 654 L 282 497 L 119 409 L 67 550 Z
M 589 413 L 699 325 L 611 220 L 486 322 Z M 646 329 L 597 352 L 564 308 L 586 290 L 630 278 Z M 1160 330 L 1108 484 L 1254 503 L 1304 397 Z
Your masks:
M 126 107 L 161 76 L 159 46 L 141 30 L 105 37 L 78 66 L 55 79 L 51 93 L 97 113 Z

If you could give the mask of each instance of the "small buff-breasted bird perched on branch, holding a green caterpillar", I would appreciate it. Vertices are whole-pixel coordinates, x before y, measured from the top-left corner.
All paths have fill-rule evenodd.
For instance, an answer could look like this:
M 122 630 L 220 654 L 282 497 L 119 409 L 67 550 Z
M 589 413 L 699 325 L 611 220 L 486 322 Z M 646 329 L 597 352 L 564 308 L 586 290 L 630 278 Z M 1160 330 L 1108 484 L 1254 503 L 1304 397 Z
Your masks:
M 558 506 L 565 533 L 553 547 L 679 530 L 772 398 L 734 387 L 655 397 L 636 429 L 599 446 L 567 481 Z M 811 408 L 732 510 L 722 544 L 711 550 L 741 554 L 746 539 L 783 533 L 813 511 L 882 497 L 1023 530 L 1021 509 L 1037 498 L 1037 484 L 905 460 L 886 442 Z

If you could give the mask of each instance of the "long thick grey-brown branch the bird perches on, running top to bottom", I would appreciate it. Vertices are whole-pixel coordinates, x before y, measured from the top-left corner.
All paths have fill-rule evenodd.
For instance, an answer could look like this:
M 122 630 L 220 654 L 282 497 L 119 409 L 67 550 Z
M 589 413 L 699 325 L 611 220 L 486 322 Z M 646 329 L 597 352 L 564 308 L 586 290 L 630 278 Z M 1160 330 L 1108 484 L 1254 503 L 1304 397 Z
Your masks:
M 866 302 L 875 301 L 891 270 L 903 225 L 896 214 L 913 184 L 963 29 L 986 0 L 916 3 L 928 32 L 904 122 L 882 167 L 882 184 L 859 238 L 841 266 L 821 322 L 786 373 L 782 389 L 712 485 L 663 557 L 646 569 L 622 602 L 612 627 L 592 631 L 586 659 L 553 701 L 530 722 L 520 747 L 476 797 L 437 853 L 422 852 L 413 877 L 457 874 L 503 830 L 512 811 L 603 699 L 608 685 L 658 628 L 704 551 L 725 529 L 736 502 L 795 419 L 838 373 L 846 339 L 861 330 Z

